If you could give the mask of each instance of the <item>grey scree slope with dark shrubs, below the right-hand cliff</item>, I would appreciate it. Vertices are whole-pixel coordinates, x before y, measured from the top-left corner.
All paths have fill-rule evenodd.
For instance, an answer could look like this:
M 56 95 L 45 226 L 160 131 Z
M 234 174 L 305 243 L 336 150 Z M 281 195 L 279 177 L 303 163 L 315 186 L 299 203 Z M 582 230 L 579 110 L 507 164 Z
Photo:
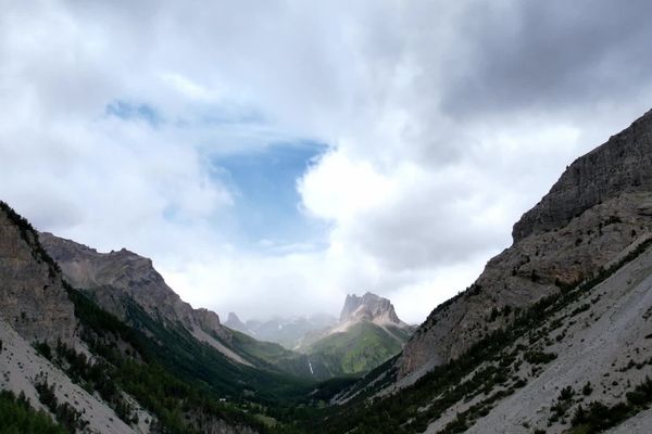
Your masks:
M 333 408 L 306 431 L 598 433 L 645 426 L 652 418 L 650 288 L 652 234 L 592 279 L 540 299 L 410 385 L 373 372 L 361 382 L 366 391 L 359 383 L 344 392 L 358 393 L 355 401 Z M 377 399 L 360 400 L 372 395 Z

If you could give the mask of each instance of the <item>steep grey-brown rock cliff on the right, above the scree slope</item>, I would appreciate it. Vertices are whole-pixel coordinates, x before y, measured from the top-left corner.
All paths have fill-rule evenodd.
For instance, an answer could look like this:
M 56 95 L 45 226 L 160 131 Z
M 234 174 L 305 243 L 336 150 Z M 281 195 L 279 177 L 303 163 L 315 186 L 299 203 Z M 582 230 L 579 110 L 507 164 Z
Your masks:
M 399 375 L 463 354 L 514 311 L 580 281 L 652 229 L 652 112 L 575 161 L 514 226 L 513 245 L 405 345 Z

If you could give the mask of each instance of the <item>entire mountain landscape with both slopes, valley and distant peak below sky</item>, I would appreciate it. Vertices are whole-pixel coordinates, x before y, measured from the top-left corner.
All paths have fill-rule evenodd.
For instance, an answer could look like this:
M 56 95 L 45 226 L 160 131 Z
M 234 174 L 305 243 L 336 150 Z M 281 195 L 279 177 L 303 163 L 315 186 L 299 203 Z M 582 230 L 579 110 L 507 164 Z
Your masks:
M 292 332 L 297 350 L 192 308 L 147 258 L 39 233 L 0 203 L 0 421 L 52 433 L 645 433 L 651 289 L 652 112 L 570 164 L 512 245 L 416 329 L 388 299 L 351 294 L 337 322 Z

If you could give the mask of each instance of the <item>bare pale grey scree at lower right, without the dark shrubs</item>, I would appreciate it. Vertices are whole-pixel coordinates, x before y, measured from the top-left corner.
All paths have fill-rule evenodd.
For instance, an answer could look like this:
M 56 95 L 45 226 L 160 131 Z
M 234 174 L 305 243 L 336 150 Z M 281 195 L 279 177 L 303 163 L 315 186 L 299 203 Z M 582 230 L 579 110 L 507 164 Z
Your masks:
M 556 327 L 550 327 L 555 320 Z M 537 375 L 519 372 L 527 385 L 499 401 L 469 433 L 531 433 L 535 429 L 564 432 L 570 427 L 568 420 L 578 405 L 586 408 L 593 400 L 606 405 L 625 400 L 626 392 L 645 375 L 652 376 L 648 363 L 652 357 L 652 250 L 551 318 L 547 330 L 546 352 L 555 353 L 557 358 Z M 585 396 L 580 391 L 587 382 L 593 391 Z M 551 422 L 551 407 L 567 386 L 575 392 L 572 408 L 566 417 Z M 453 407 L 426 433 L 442 430 L 469 404 Z M 648 433 L 649 426 L 652 411 L 640 413 L 612 432 Z

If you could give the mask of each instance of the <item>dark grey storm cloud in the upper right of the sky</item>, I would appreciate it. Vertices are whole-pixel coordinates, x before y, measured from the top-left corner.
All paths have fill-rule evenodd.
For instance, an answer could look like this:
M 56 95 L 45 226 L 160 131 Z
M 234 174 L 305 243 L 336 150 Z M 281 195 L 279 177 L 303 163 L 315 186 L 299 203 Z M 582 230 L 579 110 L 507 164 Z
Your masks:
M 471 5 L 460 23 L 452 50 L 466 59 L 447 73 L 449 114 L 610 103 L 652 82 L 652 2 L 496 4 Z

